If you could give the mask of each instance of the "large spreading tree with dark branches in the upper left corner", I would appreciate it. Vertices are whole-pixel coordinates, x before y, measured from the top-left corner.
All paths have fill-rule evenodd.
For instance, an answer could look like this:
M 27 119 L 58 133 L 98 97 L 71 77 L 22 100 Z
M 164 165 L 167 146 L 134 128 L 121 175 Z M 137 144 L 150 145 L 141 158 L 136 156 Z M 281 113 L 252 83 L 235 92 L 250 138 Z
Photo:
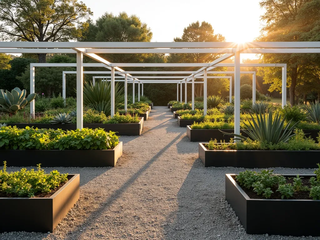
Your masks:
M 77 0 L 1 0 L 0 34 L 3 40 L 62 42 L 82 35 L 92 12 Z M 77 28 L 81 25 L 81 28 Z M 46 54 L 38 54 L 46 62 Z

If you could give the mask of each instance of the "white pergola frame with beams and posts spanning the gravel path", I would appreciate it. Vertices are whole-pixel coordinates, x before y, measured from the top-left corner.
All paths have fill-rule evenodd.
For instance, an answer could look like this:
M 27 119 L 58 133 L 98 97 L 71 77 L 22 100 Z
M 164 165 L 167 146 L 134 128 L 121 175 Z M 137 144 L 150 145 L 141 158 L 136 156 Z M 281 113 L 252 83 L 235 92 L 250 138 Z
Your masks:
M 229 42 L 0 42 L 0 52 L 3 53 L 75 53 L 76 54 L 76 82 L 77 82 L 77 128 L 83 128 L 83 56 L 88 56 L 98 62 L 99 67 L 111 70 L 111 116 L 114 115 L 114 84 L 115 74 L 133 81 L 141 81 L 124 71 L 121 67 L 199 67 L 189 76 L 178 80 L 178 83 L 191 80 L 194 90 L 195 78 L 202 76 L 204 79 L 204 98 L 207 95 L 207 74 L 216 67 L 234 67 L 234 95 L 235 95 L 235 133 L 240 134 L 240 67 L 249 66 L 240 64 L 241 53 L 320 53 L 320 42 L 248 42 L 236 44 Z M 110 63 L 101 58 L 97 53 L 224 53 L 220 58 L 210 63 Z M 234 63 L 221 64 L 222 61 L 234 57 Z M 253 65 L 254 66 L 254 65 Z M 30 65 L 31 67 L 31 65 Z M 282 104 L 286 103 L 286 65 L 266 64 L 265 67 L 282 67 Z M 34 80 L 34 67 L 30 71 Z M 161 74 L 166 74 L 162 72 Z M 160 77 L 159 77 L 160 78 Z M 148 78 L 150 79 L 150 78 Z M 149 81 L 147 81 L 149 82 Z M 166 82 L 166 81 L 162 81 Z M 172 82 L 172 81 L 171 81 Z M 171 83 L 170 82 L 170 83 Z M 34 90 L 34 81 L 30 84 L 30 90 Z M 193 91 L 194 93 L 194 91 Z M 192 96 L 194 100 L 194 94 Z M 204 101 L 206 108 L 206 101 Z M 34 104 L 33 104 L 34 108 Z

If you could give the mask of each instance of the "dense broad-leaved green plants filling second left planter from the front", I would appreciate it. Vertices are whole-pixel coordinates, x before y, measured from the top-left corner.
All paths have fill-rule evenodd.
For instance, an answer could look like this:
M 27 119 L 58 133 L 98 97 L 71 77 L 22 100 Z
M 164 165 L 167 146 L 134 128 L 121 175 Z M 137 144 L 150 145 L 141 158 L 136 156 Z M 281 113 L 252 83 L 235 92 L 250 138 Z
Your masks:
M 0 149 L 110 149 L 117 144 L 115 132 L 101 128 L 62 131 L 8 126 L 0 129 Z

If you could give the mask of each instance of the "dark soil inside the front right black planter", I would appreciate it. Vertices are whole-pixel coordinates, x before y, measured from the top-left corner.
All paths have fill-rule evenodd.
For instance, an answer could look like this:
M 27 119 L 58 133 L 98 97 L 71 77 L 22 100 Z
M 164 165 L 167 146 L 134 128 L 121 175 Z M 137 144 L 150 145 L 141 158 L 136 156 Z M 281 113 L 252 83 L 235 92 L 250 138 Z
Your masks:
M 238 182 L 238 180 L 236 180 L 235 176 L 232 176 L 232 178 L 237 182 L 237 184 L 240 186 L 240 183 Z M 285 177 L 287 180 L 287 183 L 291 183 L 293 185 L 293 177 L 292 178 L 287 178 Z M 309 179 L 310 178 L 302 178 L 302 186 L 308 186 L 308 188 L 311 188 L 311 184 L 309 183 Z M 264 196 L 262 196 L 262 194 L 258 195 L 257 193 L 253 192 L 253 188 L 245 188 L 244 186 L 240 186 L 242 188 L 242 190 L 244 190 L 244 192 L 252 199 L 267 199 Z M 278 185 L 274 185 L 271 188 L 271 191 L 273 191 L 273 193 L 271 194 L 270 198 L 268 199 L 281 199 L 281 193 L 280 192 L 276 192 L 276 190 L 278 189 Z M 299 192 L 294 192 L 292 197 L 289 197 L 288 199 L 298 199 L 298 200 L 312 200 L 312 197 L 309 196 L 310 191 L 299 191 Z M 284 199 L 287 199 L 286 197 L 284 197 Z

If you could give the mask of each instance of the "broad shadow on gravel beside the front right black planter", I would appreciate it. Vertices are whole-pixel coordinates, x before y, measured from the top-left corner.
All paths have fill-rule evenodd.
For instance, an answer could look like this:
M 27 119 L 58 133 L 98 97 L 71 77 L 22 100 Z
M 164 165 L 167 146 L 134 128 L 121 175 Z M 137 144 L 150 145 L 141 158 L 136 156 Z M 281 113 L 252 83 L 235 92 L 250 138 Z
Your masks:
M 199 159 L 194 162 L 178 192 L 178 209 L 164 224 L 164 239 L 221 239 L 217 236 L 221 228 L 234 230 L 221 202 L 225 196 L 221 176 L 219 181 L 212 176 L 212 169 L 204 168 Z

